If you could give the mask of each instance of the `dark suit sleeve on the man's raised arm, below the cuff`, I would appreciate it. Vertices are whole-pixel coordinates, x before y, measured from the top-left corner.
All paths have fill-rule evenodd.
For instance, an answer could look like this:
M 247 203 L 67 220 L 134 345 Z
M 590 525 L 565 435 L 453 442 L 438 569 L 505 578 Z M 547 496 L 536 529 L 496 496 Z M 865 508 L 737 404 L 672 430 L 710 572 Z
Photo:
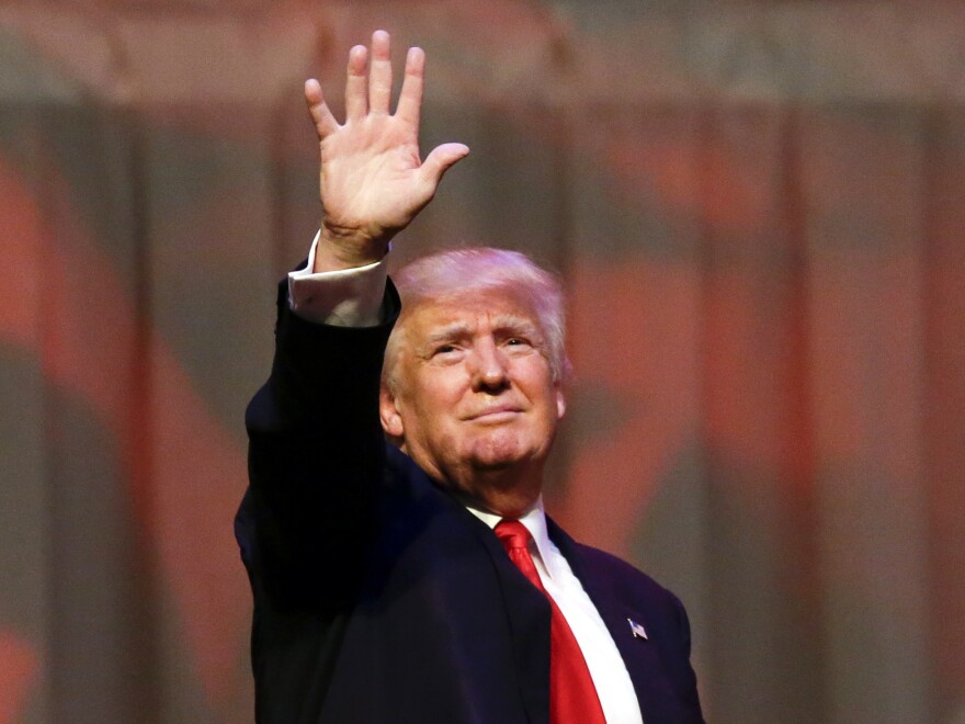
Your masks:
M 256 597 L 338 607 L 351 596 L 384 474 L 379 377 L 399 308 L 389 282 L 384 324 L 317 325 L 291 312 L 280 284 L 271 376 L 246 414 L 249 488 L 236 518 Z

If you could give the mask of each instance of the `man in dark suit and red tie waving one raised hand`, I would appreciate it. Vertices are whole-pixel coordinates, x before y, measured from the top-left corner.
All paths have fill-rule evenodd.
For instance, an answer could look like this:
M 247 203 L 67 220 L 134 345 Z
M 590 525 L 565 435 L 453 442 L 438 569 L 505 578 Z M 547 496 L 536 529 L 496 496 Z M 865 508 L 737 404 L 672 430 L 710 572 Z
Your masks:
M 350 53 L 344 124 L 306 83 L 325 216 L 248 409 L 258 720 L 700 722 L 680 602 L 543 512 L 556 280 L 470 249 L 402 270 L 401 306 L 386 281 L 389 239 L 468 149 L 420 161 L 424 56 L 389 114 L 388 34 L 371 55 Z

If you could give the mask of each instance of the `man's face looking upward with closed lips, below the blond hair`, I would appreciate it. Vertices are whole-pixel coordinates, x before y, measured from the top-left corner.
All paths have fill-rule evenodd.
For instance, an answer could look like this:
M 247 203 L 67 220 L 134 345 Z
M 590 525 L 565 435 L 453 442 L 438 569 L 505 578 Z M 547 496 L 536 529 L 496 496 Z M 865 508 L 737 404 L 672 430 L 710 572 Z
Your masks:
M 538 478 L 565 403 L 525 296 L 499 289 L 422 303 L 401 324 L 395 389 L 382 395 L 386 432 L 457 487 L 513 466 Z

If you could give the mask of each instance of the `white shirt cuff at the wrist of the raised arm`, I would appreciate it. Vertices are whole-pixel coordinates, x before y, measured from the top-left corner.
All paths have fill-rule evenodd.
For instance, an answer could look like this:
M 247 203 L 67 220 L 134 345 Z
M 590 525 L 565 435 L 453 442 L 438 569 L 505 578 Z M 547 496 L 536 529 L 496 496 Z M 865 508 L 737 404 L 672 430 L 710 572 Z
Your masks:
M 288 273 L 288 306 L 296 315 L 315 324 L 336 327 L 375 327 L 382 321 L 382 299 L 388 279 L 386 257 L 365 267 L 318 272 L 315 235 L 305 269 Z

